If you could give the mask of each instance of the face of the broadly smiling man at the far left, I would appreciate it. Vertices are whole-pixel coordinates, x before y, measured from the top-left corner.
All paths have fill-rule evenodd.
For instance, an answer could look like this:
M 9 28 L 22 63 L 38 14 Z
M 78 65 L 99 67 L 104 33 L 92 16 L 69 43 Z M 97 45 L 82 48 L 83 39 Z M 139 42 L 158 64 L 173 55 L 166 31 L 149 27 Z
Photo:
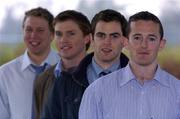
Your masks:
M 23 27 L 24 42 L 29 55 L 48 54 L 53 34 L 49 30 L 48 22 L 40 17 L 29 16 Z

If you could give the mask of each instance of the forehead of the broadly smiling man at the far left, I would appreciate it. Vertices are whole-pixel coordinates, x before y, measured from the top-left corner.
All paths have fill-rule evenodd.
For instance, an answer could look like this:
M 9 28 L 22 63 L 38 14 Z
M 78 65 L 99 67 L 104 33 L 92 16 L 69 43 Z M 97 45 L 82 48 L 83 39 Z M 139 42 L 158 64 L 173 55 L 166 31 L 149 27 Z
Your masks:
M 24 21 L 24 26 L 48 27 L 48 21 L 42 17 L 29 16 Z

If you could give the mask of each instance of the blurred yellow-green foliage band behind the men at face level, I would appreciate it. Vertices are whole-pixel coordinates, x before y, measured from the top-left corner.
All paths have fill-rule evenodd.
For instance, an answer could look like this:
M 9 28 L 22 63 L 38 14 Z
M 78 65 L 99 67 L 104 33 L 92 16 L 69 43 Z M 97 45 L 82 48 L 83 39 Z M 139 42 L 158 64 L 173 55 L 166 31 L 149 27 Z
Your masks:
M 54 42 L 52 43 L 52 47 L 55 48 Z M 23 43 L 18 44 L 0 44 L 0 65 L 16 58 L 21 55 L 25 50 L 25 46 Z M 88 50 L 88 52 L 93 51 L 92 48 Z M 125 54 L 128 55 L 126 50 L 123 50 Z M 180 79 L 180 47 L 173 46 L 167 47 L 163 49 L 159 56 L 158 61 L 162 68 L 166 71 L 172 73 L 176 77 Z

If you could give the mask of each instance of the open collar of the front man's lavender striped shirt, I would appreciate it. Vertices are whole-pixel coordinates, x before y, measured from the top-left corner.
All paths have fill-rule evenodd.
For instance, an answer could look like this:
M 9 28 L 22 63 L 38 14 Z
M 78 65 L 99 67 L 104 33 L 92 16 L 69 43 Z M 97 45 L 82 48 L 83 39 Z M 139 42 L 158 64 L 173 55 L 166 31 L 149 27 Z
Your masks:
M 127 84 L 129 81 L 136 79 L 135 75 L 132 73 L 132 70 L 131 70 L 129 64 L 125 68 L 122 68 L 121 70 L 124 70 L 124 71 L 121 71 L 122 74 L 120 74 L 120 76 L 122 76 L 122 77 L 120 77 L 121 78 L 120 86 L 123 86 L 123 85 Z M 158 81 L 160 84 L 162 84 L 164 86 L 169 87 L 167 77 L 159 65 L 155 72 L 154 80 Z

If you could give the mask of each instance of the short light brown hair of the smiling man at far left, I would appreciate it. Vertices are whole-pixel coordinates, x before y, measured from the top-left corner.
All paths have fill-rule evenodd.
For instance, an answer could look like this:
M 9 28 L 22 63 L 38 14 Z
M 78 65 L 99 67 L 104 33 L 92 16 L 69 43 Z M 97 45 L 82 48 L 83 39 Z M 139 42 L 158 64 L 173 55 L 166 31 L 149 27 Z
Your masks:
M 48 22 L 49 30 L 51 32 L 54 31 L 54 28 L 52 25 L 54 16 L 47 9 L 42 8 L 42 7 L 37 7 L 37 8 L 33 8 L 33 9 L 26 11 L 24 19 L 23 19 L 23 28 L 24 28 L 24 22 L 30 16 L 40 17 L 40 18 L 45 19 Z

